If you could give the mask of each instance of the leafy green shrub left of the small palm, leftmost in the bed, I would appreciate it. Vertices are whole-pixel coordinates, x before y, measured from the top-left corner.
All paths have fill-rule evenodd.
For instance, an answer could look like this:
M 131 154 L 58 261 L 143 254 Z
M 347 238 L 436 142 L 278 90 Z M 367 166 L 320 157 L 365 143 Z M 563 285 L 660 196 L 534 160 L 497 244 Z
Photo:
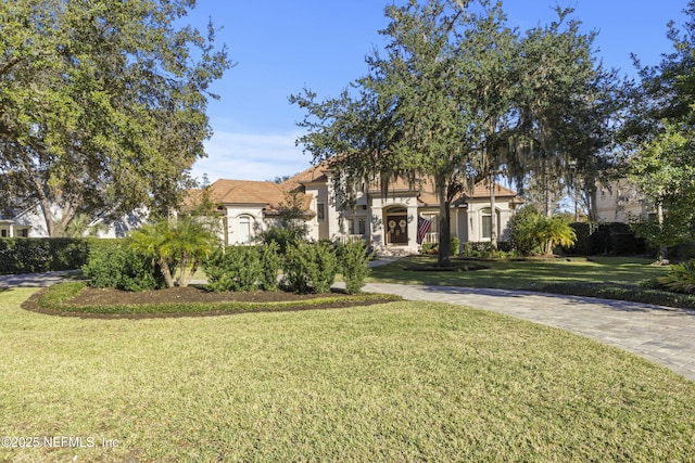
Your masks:
M 150 291 L 166 286 L 152 258 L 135 250 L 126 240 L 94 241 L 83 273 L 93 287 Z

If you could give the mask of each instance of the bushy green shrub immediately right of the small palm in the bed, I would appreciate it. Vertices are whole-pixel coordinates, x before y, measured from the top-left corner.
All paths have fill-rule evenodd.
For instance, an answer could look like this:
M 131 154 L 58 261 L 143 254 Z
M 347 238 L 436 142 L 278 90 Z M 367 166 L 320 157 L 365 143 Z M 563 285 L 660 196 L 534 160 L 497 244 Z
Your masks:
M 263 280 L 261 253 L 255 246 L 218 248 L 203 261 L 212 291 L 255 291 Z

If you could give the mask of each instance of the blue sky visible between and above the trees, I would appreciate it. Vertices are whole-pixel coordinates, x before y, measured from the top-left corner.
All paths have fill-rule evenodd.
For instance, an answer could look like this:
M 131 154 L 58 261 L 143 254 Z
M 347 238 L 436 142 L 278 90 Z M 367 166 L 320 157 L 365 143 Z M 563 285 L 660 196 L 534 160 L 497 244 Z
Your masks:
M 403 4 L 406 0 L 396 0 Z M 207 157 L 195 163 L 193 176 L 271 180 L 311 165 L 294 141 L 303 113 L 288 97 L 303 88 L 319 99 L 337 97 L 367 72 L 365 56 L 383 43 L 383 8 L 392 0 L 199 0 L 188 17 L 204 28 L 212 18 L 222 27 L 237 66 L 215 82 L 222 97 L 211 101 L 215 132 L 205 144 Z M 504 0 L 509 26 L 526 30 L 556 16 L 553 7 L 574 8 L 585 30 L 597 30 L 596 55 L 607 67 L 634 75 L 630 53 L 643 64 L 657 64 L 670 51 L 667 23 L 682 24 L 686 0 Z

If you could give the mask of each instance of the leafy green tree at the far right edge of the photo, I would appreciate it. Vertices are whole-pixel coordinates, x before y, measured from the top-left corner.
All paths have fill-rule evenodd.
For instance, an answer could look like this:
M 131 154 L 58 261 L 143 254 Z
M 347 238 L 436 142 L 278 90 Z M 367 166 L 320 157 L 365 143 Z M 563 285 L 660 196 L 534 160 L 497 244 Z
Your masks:
M 652 223 L 636 230 L 662 249 L 695 239 L 695 1 L 684 13 L 682 30 L 669 25 L 672 50 L 661 63 L 636 62 L 641 82 L 623 129 L 628 177 L 654 213 Z

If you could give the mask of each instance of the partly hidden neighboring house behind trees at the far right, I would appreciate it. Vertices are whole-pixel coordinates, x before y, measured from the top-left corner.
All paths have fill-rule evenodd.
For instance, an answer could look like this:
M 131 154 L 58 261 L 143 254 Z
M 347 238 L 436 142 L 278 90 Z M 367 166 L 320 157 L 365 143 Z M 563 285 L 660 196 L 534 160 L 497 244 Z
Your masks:
M 627 179 L 607 185 L 598 184 L 594 204 L 598 222 L 627 223 L 630 217 L 646 219 L 656 214 L 652 203 Z

